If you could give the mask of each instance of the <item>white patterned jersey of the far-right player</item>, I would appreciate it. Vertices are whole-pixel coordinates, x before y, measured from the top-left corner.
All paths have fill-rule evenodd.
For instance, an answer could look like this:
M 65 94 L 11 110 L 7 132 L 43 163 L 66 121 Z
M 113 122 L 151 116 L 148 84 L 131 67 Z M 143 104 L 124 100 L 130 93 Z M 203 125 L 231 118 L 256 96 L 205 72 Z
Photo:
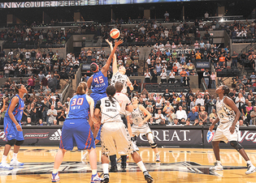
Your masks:
M 222 100 L 217 100 L 216 109 L 217 115 L 219 117 L 220 123 L 233 122 L 235 120 L 236 114 L 234 110 L 223 102 L 226 96 Z

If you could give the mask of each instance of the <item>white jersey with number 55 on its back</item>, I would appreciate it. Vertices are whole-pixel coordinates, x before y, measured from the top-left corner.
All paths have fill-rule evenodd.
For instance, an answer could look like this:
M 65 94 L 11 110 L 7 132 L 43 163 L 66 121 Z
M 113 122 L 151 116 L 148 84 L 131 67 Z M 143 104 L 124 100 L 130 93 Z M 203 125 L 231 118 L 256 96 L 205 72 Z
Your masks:
M 100 108 L 102 112 L 102 124 L 106 122 L 123 122 L 120 117 L 120 105 L 117 100 L 114 104 L 111 103 L 108 97 L 105 97 L 100 100 Z

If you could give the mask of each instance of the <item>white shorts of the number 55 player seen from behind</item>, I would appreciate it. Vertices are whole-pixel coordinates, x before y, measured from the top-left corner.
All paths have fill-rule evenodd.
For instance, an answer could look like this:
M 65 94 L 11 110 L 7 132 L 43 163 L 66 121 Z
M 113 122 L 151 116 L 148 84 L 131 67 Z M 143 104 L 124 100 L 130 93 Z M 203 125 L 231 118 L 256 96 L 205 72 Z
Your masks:
M 101 139 L 103 155 L 128 155 L 133 152 L 131 137 L 123 122 L 104 123 Z

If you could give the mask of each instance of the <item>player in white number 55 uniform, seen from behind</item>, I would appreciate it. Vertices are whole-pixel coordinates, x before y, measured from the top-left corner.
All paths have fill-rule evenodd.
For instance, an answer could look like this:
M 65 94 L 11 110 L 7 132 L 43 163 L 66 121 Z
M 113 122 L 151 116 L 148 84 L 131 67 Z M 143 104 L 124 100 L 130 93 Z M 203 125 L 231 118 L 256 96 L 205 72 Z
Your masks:
M 99 119 L 100 113 L 102 113 L 102 168 L 104 173 L 104 180 L 102 182 L 109 182 L 109 159 L 108 155 L 128 155 L 132 153 L 132 159 L 141 168 L 144 174 L 145 181 L 152 182 L 153 178 L 146 170 L 145 165 L 141 160 L 141 156 L 133 151 L 131 137 L 128 134 L 127 128 L 124 126 L 119 111 L 119 102 L 114 98 L 115 87 L 106 87 L 107 97 L 98 100 L 95 109 L 95 117 Z

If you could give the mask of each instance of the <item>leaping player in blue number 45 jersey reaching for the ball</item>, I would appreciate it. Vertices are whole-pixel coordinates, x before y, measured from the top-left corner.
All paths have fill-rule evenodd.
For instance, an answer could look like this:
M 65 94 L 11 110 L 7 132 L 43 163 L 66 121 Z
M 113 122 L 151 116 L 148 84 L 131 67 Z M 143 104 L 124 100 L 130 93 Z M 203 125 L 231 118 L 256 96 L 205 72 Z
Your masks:
M 112 47 L 112 44 L 109 40 L 106 40 L 106 42 Z M 106 97 L 106 87 L 108 87 L 107 70 L 109 70 L 111 66 L 112 58 L 115 57 L 115 50 L 117 46 L 121 45 L 122 43 L 123 40 L 118 40 L 115 42 L 115 47 L 114 49 L 111 49 L 111 55 L 110 57 L 108 57 L 105 66 L 102 66 L 102 70 L 99 70 L 97 63 L 93 62 L 90 66 L 93 75 L 88 79 L 87 84 L 88 87 L 91 88 L 91 90 L 93 91 L 90 96 L 93 98 L 95 105 L 98 100 Z M 92 126 L 92 124 L 90 125 Z M 94 126 L 94 137 L 96 136 L 96 134 L 98 134 L 98 131 L 100 131 L 98 128 L 99 126 Z M 100 140 L 100 134 L 98 134 L 96 139 L 98 143 L 98 141 Z

